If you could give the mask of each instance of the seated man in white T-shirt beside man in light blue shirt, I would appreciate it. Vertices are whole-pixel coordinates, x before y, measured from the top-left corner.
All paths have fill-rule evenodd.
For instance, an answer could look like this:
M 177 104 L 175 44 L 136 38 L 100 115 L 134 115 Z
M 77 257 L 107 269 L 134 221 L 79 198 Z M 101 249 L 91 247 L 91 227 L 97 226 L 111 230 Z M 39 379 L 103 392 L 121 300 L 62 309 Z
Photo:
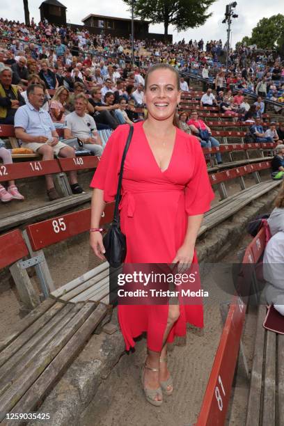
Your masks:
M 64 138 L 70 139 L 70 142 L 66 141 L 66 143 L 70 143 L 70 145 L 75 146 L 77 149 L 80 148 L 77 143 L 77 139 L 79 139 L 84 144 L 84 150 L 89 150 L 93 155 L 100 157 L 104 148 L 102 147 L 100 136 L 97 134 L 95 120 L 86 113 L 87 102 L 88 100 L 84 93 L 76 95 L 75 111 L 68 114 L 65 118 Z

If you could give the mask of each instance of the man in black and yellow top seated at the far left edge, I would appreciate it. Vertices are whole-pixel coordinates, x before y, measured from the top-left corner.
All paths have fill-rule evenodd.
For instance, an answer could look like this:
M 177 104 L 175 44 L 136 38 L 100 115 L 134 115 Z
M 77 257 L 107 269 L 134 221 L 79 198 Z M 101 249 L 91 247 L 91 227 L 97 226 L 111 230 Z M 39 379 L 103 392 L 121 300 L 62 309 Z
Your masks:
M 0 68 L 0 124 L 13 125 L 17 109 L 24 105 L 24 99 L 17 86 L 12 84 L 13 71 Z

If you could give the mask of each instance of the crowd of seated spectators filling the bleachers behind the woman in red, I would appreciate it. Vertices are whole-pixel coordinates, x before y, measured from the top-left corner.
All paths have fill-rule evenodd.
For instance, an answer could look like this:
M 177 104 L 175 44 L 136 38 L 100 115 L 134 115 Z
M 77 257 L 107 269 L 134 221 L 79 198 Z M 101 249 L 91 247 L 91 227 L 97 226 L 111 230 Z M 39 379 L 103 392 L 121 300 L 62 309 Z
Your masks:
M 265 98 L 283 103 L 274 106 L 279 115 L 284 109 L 284 67 L 273 52 L 259 54 L 242 45 L 229 52 L 226 73 L 219 62 L 226 53 L 221 40 L 175 44 L 134 40 L 132 63 L 130 40 L 93 35 L 86 29 L 47 21 L 37 25 L 34 19 L 26 26 L 0 19 L 0 34 L 0 125 L 14 125 L 22 147 L 43 159 L 54 154 L 74 157 L 74 148 L 102 155 L 104 144 L 97 130 L 143 119 L 145 72 L 155 63 L 169 63 L 184 73 L 184 91 L 189 90 L 187 73 L 200 74 L 205 91 L 200 106 L 218 107 L 235 120 L 251 122 L 253 141 L 283 140 L 283 125 L 276 129 L 271 123 L 267 130 L 261 125 Z M 257 100 L 250 104 L 252 93 Z M 182 111 L 178 125 L 195 134 L 202 146 L 219 145 L 198 111 L 191 111 L 190 117 Z M 56 128 L 64 129 L 63 141 Z M 2 161 L 11 162 L 5 144 L 0 146 Z M 216 160 L 221 163 L 221 155 Z M 49 199 L 56 200 L 52 178 L 46 180 Z M 74 194 L 83 191 L 76 173 L 70 173 L 70 183 Z M 13 198 L 24 198 L 15 182 L 9 182 L 7 189 L 1 185 L 1 201 Z

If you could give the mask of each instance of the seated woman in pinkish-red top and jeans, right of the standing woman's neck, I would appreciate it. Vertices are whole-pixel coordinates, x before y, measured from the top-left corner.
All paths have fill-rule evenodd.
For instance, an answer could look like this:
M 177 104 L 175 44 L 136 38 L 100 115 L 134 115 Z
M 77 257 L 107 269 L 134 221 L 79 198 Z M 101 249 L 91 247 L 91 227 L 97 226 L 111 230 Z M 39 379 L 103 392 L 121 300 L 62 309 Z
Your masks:
M 220 145 L 219 141 L 217 141 L 217 139 L 211 136 L 210 127 L 208 127 L 203 120 L 198 118 L 197 111 L 191 112 L 191 118 L 187 122 L 187 124 L 191 129 L 191 134 L 194 134 L 194 136 L 198 138 L 203 148 L 211 148 Z M 220 152 L 216 152 L 216 161 L 218 164 L 222 163 L 222 157 Z

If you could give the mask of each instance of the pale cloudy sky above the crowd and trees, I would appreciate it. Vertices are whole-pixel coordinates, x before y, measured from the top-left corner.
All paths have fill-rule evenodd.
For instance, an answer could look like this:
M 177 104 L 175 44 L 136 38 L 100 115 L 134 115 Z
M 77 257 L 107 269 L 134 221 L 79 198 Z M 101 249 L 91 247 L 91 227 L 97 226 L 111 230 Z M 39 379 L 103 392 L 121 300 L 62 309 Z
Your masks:
M 107 15 L 112 17 L 130 17 L 128 6 L 123 0 L 84 0 L 84 8 L 78 0 L 59 0 L 67 7 L 67 20 L 72 24 L 82 24 L 81 19 L 94 13 L 95 15 Z M 226 24 L 222 24 L 224 19 L 226 4 L 230 0 L 216 0 L 210 7 L 209 11 L 213 13 L 207 22 L 196 29 L 187 31 L 175 31 L 172 26 L 169 27 L 168 33 L 173 34 L 173 41 L 185 39 L 188 42 L 193 40 L 221 40 L 226 41 Z M 4 4 L 5 3 L 5 6 Z M 36 22 L 40 20 L 40 10 L 38 9 L 41 0 L 29 0 L 30 17 L 34 17 Z M 15 19 L 24 22 L 24 8 L 22 0 L 3 1 L 1 0 L 0 17 L 7 19 Z M 262 17 L 271 17 L 277 13 L 283 13 L 283 0 L 273 0 L 273 8 L 267 0 L 239 0 L 235 8 L 235 13 L 239 15 L 232 22 L 231 44 L 234 46 L 236 42 L 242 40 L 244 36 L 251 36 L 251 30 Z M 163 24 L 150 25 L 150 33 L 164 33 Z

